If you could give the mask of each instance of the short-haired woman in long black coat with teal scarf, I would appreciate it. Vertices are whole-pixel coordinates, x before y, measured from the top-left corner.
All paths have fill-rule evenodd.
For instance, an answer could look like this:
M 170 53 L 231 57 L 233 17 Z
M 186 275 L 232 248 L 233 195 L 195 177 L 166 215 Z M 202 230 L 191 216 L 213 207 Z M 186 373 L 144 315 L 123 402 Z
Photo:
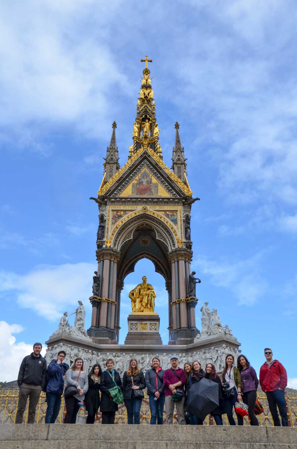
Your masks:
M 107 359 L 105 362 L 107 370 L 103 371 L 100 376 L 101 402 L 100 412 L 102 413 L 102 424 L 114 424 L 115 412 L 118 410 L 116 404 L 109 394 L 109 388 L 116 385 L 122 390 L 122 380 L 118 371 L 114 370 L 113 359 Z

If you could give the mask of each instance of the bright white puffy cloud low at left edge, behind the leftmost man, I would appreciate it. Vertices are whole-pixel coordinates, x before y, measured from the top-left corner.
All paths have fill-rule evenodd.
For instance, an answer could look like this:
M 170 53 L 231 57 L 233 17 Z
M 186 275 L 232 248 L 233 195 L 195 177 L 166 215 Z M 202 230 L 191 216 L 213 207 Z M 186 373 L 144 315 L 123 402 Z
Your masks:
M 1 359 L 1 382 L 10 382 L 17 379 L 18 370 L 22 359 L 31 354 L 33 344 L 25 342 L 16 343 L 13 334 L 19 334 L 24 329 L 18 324 L 9 325 L 6 321 L 0 321 L 0 359 Z M 45 353 L 43 348 L 42 353 Z

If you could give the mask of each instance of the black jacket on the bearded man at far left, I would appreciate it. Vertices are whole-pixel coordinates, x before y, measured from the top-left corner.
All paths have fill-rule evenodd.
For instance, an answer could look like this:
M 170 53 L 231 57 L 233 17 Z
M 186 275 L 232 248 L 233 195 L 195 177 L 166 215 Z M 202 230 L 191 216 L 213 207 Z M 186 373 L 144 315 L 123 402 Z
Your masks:
M 40 385 L 44 389 L 45 376 L 46 360 L 40 354 L 39 357 L 35 357 L 31 352 L 30 356 L 26 356 L 22 360 L 17 376 L 17 385 L 20 387 L 22 383 L 31 383 Z

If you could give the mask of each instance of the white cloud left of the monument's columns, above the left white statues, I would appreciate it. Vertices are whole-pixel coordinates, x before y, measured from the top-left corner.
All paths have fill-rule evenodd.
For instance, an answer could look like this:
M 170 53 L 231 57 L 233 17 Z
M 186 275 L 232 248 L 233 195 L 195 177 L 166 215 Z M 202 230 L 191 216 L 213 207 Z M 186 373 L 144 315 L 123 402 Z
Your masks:
M 77 263 L 42 265 L 26 275 L 0 273 L 0 291 L 16 290 L 17 303 L 38 315 L 57 320 L 68 308 L 82 300 L 90 307 L 87 298 L 92 294 L 94 264 Z

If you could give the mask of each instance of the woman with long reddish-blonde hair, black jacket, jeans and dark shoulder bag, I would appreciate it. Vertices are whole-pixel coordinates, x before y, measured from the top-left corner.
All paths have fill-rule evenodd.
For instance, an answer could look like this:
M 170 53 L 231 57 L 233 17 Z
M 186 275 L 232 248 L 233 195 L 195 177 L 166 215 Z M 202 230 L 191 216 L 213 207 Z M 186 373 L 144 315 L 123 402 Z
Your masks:
M 127 409 L 128 424 L 140 424 L 140 408 L 144 398 L 144 374 L 139 370 L 136 359 L 131 359 L 123 375 L 123 396 Z M 133 422 L 134 416 L 134 422 Z

